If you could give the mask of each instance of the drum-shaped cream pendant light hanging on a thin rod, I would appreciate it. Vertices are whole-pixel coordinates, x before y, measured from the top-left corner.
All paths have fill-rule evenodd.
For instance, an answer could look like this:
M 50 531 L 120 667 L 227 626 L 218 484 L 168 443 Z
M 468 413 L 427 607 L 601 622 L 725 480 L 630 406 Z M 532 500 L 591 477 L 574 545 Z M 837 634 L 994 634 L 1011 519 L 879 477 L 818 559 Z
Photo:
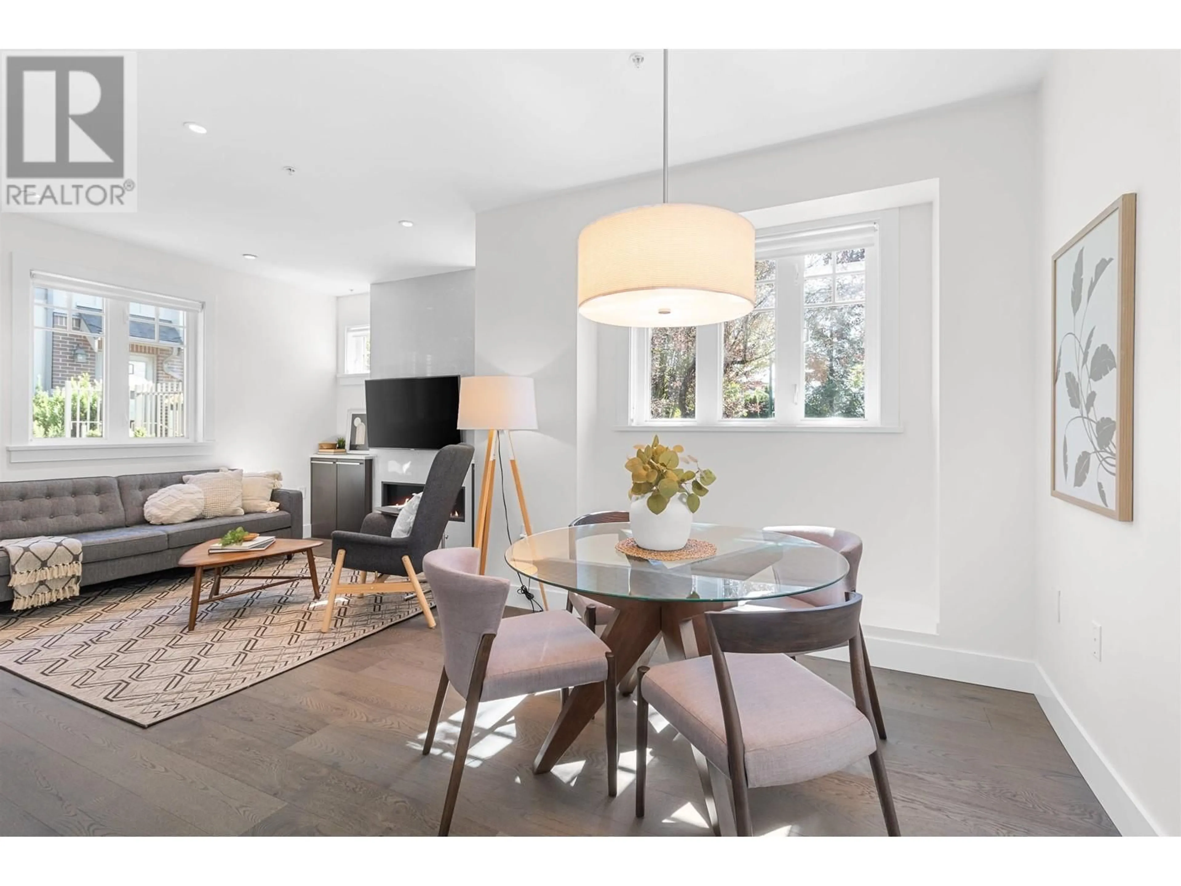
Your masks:
M 753 307 L 755 227 L 729 209 L 668 202 L 665 50 L 664 202 L 582 229 L 579 313 L 612 326 L 705 326 Z

